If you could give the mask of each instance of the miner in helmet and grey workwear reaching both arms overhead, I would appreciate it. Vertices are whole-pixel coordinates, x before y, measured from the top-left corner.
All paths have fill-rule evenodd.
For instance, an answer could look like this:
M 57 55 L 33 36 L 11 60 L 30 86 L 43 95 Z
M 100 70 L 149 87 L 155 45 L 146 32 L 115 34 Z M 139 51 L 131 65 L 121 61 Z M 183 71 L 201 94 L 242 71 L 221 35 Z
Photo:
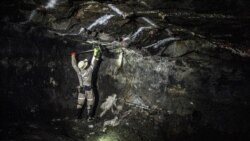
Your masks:
M 76 53 L 71 53 L 71 63 L 72 67 L 77 73 L 79 83 L 78 86 L 78 99 L 77 99 L 77 118 L 81 119 L 82 111 L 84 111 L 83 105 L 87 101 L 87 117 L 88 121 L 93 119 L 93 106 L 95 102 L 95 96 L 92 89 L 92 74 L 97 66 L 101 51 L 100 47 L 94 48 L 94 53 L 91 62 L 89 63 L 88 59 L 79 61 L 77 64 Z

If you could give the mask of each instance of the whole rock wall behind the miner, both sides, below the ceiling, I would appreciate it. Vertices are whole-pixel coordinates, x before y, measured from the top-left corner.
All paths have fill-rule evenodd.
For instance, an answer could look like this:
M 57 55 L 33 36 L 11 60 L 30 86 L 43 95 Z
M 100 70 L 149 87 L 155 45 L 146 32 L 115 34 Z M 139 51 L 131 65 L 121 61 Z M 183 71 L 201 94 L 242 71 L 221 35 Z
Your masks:
M 68 53 L 82 47 L 42 29 L 23 34 L 19 32 L 25 30 L 22 26 L 3 27 L 2 118 L 72 117 L 76 102 L 72 94 L 78 80 Z M 220 51 L 209 42 L 196 40 L 172 43 L 162 52 L 166 57 L 144 56 L 125 48 L 111 50 L 103 54 L 98 72 L 99 104 L 116 93 L 124 107 L 149 111 L 142 119 L 155 117 L 168 135 L 208 129 L 246 135 L 250 127 L 249 67 L 244 64 L 248 61 Z M 98 108 L 96 114 L 99 112 Z

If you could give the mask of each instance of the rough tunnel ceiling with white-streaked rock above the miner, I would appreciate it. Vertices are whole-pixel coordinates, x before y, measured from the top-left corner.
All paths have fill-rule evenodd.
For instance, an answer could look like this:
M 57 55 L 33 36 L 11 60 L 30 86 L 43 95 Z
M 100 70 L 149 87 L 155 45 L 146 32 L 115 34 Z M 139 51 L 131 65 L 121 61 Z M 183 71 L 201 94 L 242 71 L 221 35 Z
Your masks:
M 221 3 L 223 3 L 223 7 L 219 6 Z M 83 34 L 89 30 L 97 31 L 92 34 L 87 32 L 91 38 L 98 36 L 97 38 L 103 41 L 125 38 L 126 44 L 129 42 L 129 45 L 132 44 L 135 47 L 151 48 L 150 44 L 154 43 L 146 39 L 150 36 L 141 37 L 148 42 L 139 37 L 140 34 L 149 33 L 149 35 L 152 34 L 151 37 L 154 36 L 153 38 L 161 40 L 158 43 L 177 40 L 179 36 L 182 37 L 181 39 L 204 38 L 219 44 L 219 47 L 231 49 L 237 46 L 239 51 L 248 51 L 249 17 L 245 8 L 249 4 L 247 1 L 225 0 L 219 3 L 217 1 L 148 0 L 120 1 L 115 4 L 118 5 L 97 2 L 83 4 L 82 1 L 64 0 L 25 1 L 25 3 L 19 1 L 15 4 L 3 4 L 10 8 L 4 10 L 6 9 L 4 7 L 3 13 L 12 11 L 8 14 L 15 14 L 4 15 L 3 20 L 19 20 L 21 24 L 39 23 L 48 28 L 50 33 L 78 42 L 82 42 L 83 39 L 87 40 Z M 22 7 L 19 9 L 14 6 Z M 233 6 L 235 7 L 233 9 L 242 11 L 232 11 Z M 199 7 L 201 9 L 206 7 L 207 11 L 199 12 L 197 10 Z M 238 16 L 237 13 L 241 13 L 241 15 Z M 100 31 L 102 33 L 97 35 Z M 94 41 L 88 41 L 88 43 L 90 42 Z

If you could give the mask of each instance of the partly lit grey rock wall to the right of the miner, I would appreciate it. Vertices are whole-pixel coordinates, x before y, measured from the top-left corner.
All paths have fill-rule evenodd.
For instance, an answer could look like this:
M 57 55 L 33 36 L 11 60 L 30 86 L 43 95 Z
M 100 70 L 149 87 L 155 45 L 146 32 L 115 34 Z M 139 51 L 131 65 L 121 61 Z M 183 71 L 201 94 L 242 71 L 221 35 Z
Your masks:
M 176 44 L 168 48 L 167 52 L 172 56 L 183 52 L 182 45 L 190 50 L 199 48 L 199 53 L 173 58 L 143 56 L 123 49 L 123 64 L 119 71 L 115 60 L 104 59 L 98 82 L 100 95 L 116 93 L 128 105 L 157 109 L 168 122 L 171 122 L 168 118 L 174 116 L 190 120 L 188 125 L 182 126 L 184 129 L 176 129 L 176 132 L 188 128 L 198 132 L 195 128 L 209 127 L 225 134 L 247 133 L 249 68 L 240 66 L 241 61 L 218 59 L 223 55 L 217 56 L 214 52 L 220 49 L 209 42 L 180 41 Z M 210 56 L 212 54 L 215 56 Z M 193 122 L 198 127 L 191 125 Z M 168 126 L 169 130 L 176 128 L 170 123 Z

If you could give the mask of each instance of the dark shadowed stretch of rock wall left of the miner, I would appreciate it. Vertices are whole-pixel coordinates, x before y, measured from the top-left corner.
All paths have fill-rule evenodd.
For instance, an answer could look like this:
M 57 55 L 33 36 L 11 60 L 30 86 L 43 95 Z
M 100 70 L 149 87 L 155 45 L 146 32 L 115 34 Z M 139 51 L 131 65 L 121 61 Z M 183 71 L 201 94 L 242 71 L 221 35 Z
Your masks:
M 43 37 L 39 29 L 24 34 L 2 27 L 1 118 L 27 121 L 70 116 L 78 81 L 68 52 L 75 44 Z

